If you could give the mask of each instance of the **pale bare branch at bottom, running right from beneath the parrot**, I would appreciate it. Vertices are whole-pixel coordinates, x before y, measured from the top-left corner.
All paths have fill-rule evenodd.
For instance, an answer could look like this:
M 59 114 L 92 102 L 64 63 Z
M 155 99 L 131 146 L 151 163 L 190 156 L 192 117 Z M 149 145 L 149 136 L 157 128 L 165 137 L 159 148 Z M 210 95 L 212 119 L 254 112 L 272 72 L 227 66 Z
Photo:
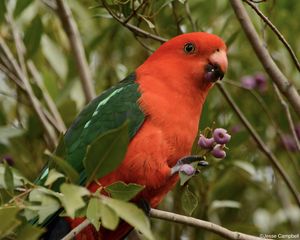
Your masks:
M 251 236 L 240 232 L 230 231 L 229 229 L 214 224 L 212 222 L 203 221 L 197 218 L 188 217 L 176 213 L 171 213 L 171 212 L 151 208 L 149 214 L 150 217 L 152 218 L 158 218 L 170 222 L 182 223 L 187 226 L 202 228 L 210 232 L 213 232 L 215 234 L 218 234 L 219 236 L 222 236 L 226 239 L 261 240 L 261 238 L 259 237 Z

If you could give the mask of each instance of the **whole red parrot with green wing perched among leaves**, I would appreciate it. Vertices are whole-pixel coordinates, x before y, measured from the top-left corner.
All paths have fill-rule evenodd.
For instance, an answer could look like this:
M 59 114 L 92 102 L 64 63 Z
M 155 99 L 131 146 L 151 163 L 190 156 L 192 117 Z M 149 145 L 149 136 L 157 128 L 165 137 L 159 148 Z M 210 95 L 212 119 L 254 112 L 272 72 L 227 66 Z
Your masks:
M 163 43 L 133 73 L 79 113 L 63 137 L 65 160 L 83 172 L 89 144 L 128 121 L 130 142 L 124 160 L 88 189 L 97 191 L 99 183 L 136 183 L 145 188 L 135 201 L 157 207 L 178 181 L 180 159 L 191 152 L 206 96 L 227 67 L 227 47 L 217 35 L 191 32 Z M 83 220 L 61 219 L 52 229 L 59 225 L 72 229 Z M 97 232 L 89 225 L 75 239 L 118 240 L 131 230 L 126 222 L 114 231 L 100 228 Z M 49 230 L 44 239 L 62 237 L 55 234 Z

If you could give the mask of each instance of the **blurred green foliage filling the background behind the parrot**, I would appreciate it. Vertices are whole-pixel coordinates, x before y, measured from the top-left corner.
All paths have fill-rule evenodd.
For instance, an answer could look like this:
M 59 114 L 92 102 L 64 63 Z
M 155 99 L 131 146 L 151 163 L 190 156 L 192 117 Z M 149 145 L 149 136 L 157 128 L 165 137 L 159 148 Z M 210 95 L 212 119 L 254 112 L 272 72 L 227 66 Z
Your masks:
M 142 1 L 107 2 L 113 11 L 126 18 L 131 14 L 132 4 L 138 6 Z M 291 135 L 291 131 L 271 79 L 267 80 L 267 90 L 263 92 L 245 89 L 241 85 L 241 77 L 263 73 L 264 70 L 243 34 L 229 1 L 188 0 L 190 15 L 184 2 L 146 1 L 130 23 L 153 34 L 171 38 L 181 32 L 192 31 L 191 17 L 197 30 L 213 32 L 227 41 L 229 71 L 224 84 L 300 189 L 300 153 L 286 149 L 278 134 Z M 45 89 L 68 127 L 83 108 L 84 96 L 68 37 L 55 11 L 45 3 L 52 6 L 53 2 L 0 1 L 0 35 L 17 58 L 11 25 L 5 18 L 6 7 L 13 9 L 13 19 L 27 49 L 25 59 L 34 62 Z M 138 37 L 141 45 L 132 32 L 112 19 L 99 1 L 70 0 L 68 4 L 81 33 L 97 93 L 116 84 L 149 56 L 151 51 L 143 45 L 153 50 L 160 45 L 155 40 Z M 260 3 L 259 8 L 299 53 L 299 23 L 292 16 L 300 13 L 300 1 L 270 0 Z M 299 89 L 299 72 L 287 50 L 249 7 L 247 10 L 273 59 Z M 46 108 L 43 91 L 32 76 L 28 76 L 36 97 Z M 299 118 L 293 112 L 292 116 L 299 124 Z M 183 189 L 186 186 L 177 186 L 160 208 L 185 213 L 187 207 L 182 206 L 180 199 L 192 191 L 199 201 L 192 214 L 194 217 L 253 235 L 297 233 L 299 206 L 216 88 L 206 101 L 200 129 L 212 126 L 213 122 L 232 134 L 228 156 L 222 161 L 208 159 L 210 167 L 189 182 L 188 190 Z M 33 180 L 47 159 L 43 154 L 45 148 L 43 127 L 26 94 L 0 72 L 0 158 L 12 158 L 14 167 Z M 1 195 L 1 201 L 5 202 L 5 199 Z M 15 209 L 10 211 L 14 214 Z M 159 220 L 152 222 L 152 228 L 157 239 L 219 239 L 203 230 Z

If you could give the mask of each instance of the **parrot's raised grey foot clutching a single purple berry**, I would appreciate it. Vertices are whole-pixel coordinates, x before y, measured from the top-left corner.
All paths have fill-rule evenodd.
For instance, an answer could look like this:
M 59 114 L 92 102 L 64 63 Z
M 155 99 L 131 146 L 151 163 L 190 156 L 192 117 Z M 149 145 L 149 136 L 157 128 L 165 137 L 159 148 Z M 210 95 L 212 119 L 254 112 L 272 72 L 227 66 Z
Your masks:
M 172 167 L 171 169 L 171 175 L 178 173 L 178 172 L 184 172 L 186 175 L 194 175 L 199 172 L 199 169 L 195 169 L 194 166 L 192 166 L 192 163 L 196 163 L 197 168 L 199 167 L 206 167 L 208 166 L 208 162 L 205 161 L 205 157 L 197 156 L 197 155 L 190 155 L 185 156 L 183 158 L 180 158 L 176 165 Z

